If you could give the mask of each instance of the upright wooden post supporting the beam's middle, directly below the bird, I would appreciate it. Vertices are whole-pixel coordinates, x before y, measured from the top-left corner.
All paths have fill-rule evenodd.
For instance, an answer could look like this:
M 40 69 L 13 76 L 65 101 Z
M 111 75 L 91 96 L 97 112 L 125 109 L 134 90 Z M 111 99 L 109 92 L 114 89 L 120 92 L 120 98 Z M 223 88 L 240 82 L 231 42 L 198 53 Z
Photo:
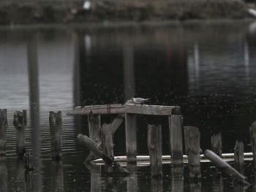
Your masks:
M 125 136 L 127 145 L 127 164 L 137 163 L 136 116 L 125 114 Z

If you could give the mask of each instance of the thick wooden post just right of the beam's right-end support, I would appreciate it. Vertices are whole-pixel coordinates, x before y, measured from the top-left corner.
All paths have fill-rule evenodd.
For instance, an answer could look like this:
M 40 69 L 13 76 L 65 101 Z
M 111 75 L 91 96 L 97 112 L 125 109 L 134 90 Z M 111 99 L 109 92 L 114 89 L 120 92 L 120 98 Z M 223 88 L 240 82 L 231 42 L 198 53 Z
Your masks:
M 200 131 L 197 127 L 184 127 L 185 150 L 189 161 L 189 177 L 200 179 Z

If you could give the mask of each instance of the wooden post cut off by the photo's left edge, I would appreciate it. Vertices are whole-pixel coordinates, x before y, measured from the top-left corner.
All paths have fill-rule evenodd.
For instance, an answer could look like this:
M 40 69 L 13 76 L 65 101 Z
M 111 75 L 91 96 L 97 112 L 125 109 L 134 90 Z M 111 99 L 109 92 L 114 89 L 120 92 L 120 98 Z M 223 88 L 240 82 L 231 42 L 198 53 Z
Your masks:
M 0 156 L 6 155 L 7 110 L 0 110 Z

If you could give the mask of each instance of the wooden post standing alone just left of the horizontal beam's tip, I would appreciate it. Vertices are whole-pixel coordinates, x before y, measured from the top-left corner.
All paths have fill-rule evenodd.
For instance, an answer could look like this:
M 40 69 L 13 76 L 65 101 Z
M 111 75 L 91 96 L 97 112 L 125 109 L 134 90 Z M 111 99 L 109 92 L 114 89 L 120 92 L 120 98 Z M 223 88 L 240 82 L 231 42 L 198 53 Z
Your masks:
M 62 158 L 61 142 L 62 142 L 62 118 L 61 111 L 52 112 L 49 115 L 50 124 L 50 145 L 52 159 L 60 161 Z

